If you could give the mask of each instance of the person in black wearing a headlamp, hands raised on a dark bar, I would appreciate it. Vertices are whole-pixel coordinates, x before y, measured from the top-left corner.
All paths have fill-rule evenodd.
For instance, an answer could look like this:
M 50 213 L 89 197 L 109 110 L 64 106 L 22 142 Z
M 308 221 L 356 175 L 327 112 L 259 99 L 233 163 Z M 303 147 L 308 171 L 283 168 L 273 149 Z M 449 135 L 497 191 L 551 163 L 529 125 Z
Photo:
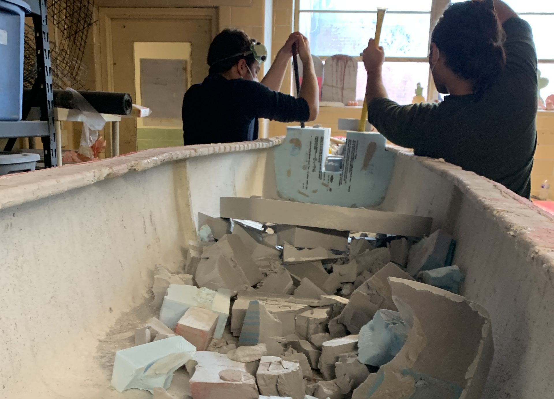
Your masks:
M 299 98 L 279 92 L 296 44 L 303 80 Z M 307 122 L 319 112 L 319 86 L 308 40 L 293 33 L 258 83 L 265 46 L 239 29 L 225 29 L 208 50 L 209 75 L 183 98 L 184 145 L 258 139 L 258 119 Z

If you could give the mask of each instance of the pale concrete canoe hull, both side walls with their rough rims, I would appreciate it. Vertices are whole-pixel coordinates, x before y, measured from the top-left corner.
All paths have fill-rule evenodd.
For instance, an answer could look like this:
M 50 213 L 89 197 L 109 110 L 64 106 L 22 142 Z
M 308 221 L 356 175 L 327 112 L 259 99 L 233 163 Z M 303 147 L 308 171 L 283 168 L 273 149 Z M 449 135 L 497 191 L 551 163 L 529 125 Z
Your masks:
M 144 305 L 153 266 L 183 264 L 196 212 L 217 214 L 220 196 L 273 196 L 278 142 L 0 178 L 0 397 L 151 397 L 113 392 L 109 378 L 114 351 L 155 314 Z M 473 173 L 402 154 L 382 207 L 433 216 L 458 240 L 464 294 L 493 318 L 483 397 L 553 397 L 554 218 Z

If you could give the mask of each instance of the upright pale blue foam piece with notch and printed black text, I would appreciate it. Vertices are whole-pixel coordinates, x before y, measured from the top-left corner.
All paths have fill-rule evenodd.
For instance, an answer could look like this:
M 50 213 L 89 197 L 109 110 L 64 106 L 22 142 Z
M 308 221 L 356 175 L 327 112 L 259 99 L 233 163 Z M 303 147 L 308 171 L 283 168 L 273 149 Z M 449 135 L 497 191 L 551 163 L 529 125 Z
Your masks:
M 378 133 L 347 132 L 340 172 L 325 171 L 331 129 L 288 127 L 275 149 L 279 197 L 345 207 L 377 206 L 387 193 L 396 154 Z

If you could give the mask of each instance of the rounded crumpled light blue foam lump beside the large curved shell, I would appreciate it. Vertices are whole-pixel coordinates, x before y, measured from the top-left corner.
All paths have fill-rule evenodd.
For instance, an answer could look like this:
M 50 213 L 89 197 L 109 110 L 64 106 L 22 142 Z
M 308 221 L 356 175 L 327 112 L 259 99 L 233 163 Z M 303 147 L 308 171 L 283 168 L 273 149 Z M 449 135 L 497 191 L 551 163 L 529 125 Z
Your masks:
M 381 367 L 391 361 L 408 339 L 408 326 L 397 311 L 378 310 L 373 320 L 360 329 L 358 360 Z

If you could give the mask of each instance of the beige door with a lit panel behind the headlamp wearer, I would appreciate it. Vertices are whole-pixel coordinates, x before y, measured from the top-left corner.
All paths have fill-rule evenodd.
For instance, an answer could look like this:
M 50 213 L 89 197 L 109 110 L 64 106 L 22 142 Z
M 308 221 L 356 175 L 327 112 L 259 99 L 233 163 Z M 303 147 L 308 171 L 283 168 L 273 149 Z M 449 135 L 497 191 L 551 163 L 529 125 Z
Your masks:
M 208 74 L 217 27 L 213 8 L 100 8 L 103 90 L 129 93 L 153 111 L 158 107 L 152 119 L 139 121 L 138 134 L 135 119 L 121 121 L 121 154 L 182 145 L 178 97 Z

